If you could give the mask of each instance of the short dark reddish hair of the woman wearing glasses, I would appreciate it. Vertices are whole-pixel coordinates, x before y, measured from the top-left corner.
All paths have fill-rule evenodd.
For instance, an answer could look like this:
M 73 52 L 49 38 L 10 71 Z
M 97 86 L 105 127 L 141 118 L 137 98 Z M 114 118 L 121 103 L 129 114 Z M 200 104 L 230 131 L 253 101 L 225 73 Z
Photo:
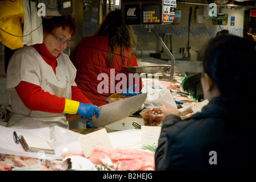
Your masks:
M 62 27 L 63 30 L 65 30 L 66 27 L 69 27 L 71 36 L 74 36 L 77 23 L 75 23 L 75 19 L 72 18 L 71 14 L 63 16 L 53 16 L 53 18 L 43 18 L 44 33 L 52 34 L 57 27 Z

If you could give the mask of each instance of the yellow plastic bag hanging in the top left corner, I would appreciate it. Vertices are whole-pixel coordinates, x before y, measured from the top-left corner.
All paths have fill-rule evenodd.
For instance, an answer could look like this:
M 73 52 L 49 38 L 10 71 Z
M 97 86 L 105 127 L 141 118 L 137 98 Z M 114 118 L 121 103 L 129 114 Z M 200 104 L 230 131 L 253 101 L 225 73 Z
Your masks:
M 0 1 L 0 28 L 2 29 L 0 30 L 0 40 L 3 45 L 10 49 L 17 49 L 24 46 L 22 44 L 23 22 L 24 9 L 22 0 L 15 2 Z

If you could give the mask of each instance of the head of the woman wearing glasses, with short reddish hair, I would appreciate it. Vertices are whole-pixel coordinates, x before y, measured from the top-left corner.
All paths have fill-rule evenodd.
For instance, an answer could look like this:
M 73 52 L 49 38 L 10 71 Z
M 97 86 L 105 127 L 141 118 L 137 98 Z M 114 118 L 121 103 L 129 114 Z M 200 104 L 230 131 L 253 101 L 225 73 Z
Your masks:
M 71 15 L 43 18 L 43 43 L 51 55 L 57 57 L 67 46 L 71 46 L 69 42 L 75 29 L 76 23 Z

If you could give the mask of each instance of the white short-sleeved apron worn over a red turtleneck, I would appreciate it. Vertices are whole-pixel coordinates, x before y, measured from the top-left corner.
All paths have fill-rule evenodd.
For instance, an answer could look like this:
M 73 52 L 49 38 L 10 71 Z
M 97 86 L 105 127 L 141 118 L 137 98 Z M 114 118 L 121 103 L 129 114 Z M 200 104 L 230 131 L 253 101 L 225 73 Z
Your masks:
M 71 86 L 76 86 L 76 69 L 65 53 L 57 59 L 56 75 L 33 46 L 17 49 L 7 68 L 6 88 L 10 90 L 11 116 L 7 127 L 35 129 L 60 126 L 69 129 L 64 113 L 47 113 L 28 109 L 19 98 L 15 86 L 21 81 L 39 85 L 45 92 L 71 99 Z

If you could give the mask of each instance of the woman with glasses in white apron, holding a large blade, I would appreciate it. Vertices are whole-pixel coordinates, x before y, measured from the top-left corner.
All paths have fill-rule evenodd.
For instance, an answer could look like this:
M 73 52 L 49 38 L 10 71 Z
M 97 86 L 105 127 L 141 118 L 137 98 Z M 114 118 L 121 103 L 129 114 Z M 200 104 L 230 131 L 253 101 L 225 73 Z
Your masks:
M 77 88 L 76 69 L 62 52 L 73 44 L 74 33 L 71 15 L 43 19 L 43 43 L 14 52 L 7 68 L 13 110 L 7 127 L 69 129 L 66 114 L 80 114 L 82 119 L 99 116 L 98 108 Z

